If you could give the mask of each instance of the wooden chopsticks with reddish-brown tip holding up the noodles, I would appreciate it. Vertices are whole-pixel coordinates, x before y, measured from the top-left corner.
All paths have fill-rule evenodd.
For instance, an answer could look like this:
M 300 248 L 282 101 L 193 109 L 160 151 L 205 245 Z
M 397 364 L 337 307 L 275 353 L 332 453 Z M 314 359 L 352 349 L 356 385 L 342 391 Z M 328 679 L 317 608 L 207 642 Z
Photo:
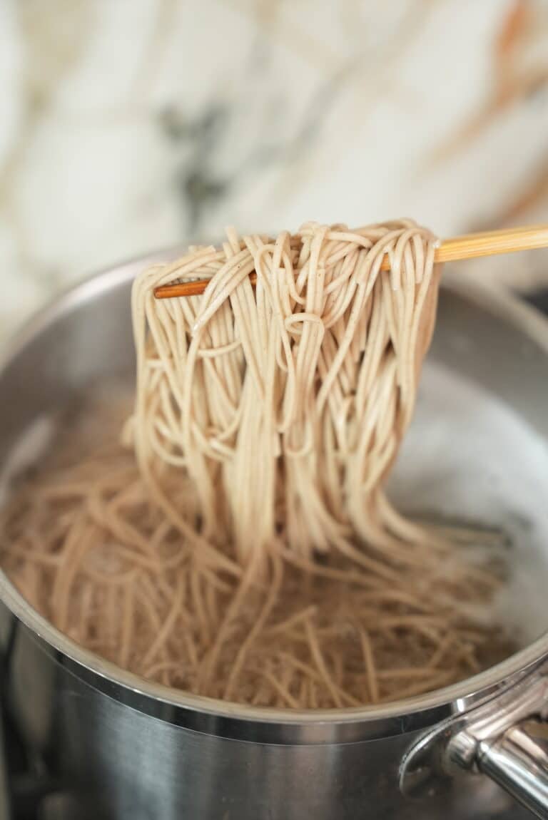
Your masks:
M 461 259 L 496 256 L 499 253 L 516 253 L 517 251 L 548 248 L 548 225 L 526 225 L 521 228 L 503 230 L 486 230 L 483 233 L 454 236 L 443 239 L 436 248 L 436 262 L 459 262 Z M 382 271 L 390 271 L 390 259 L 382 261 Z M 257 282 L 257 275 L 250 274 L 252 285 Z M 178 282 L 175 285 L 162 285 L 154 290 L 157 299 L 170 299 L 180 296 L 198 296 L 208 286 L 208 279 L 197 279 L 189 282 Z

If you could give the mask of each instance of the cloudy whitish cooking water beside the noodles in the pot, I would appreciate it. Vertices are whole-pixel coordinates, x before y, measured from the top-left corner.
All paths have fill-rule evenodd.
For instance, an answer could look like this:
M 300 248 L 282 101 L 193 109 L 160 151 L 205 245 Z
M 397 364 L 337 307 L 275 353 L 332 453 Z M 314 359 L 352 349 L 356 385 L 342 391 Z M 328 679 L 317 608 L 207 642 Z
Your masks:
M 99 393 L 112 396 L 111 390 Z M 120 403 L 119 392 L 113 394 Z M 54 438 L 52 420 L 41 418 L 17 442 L 0 474 L 0 504 L 11 479 Z M 541 435 L 476 382 L 427 361 L 389 495 L 410 515 L 505 534 L 509 578 L 491 603 L 489 620 L 505 625 L 518 645 L 548 629 L 547 486 L 548 445 Z

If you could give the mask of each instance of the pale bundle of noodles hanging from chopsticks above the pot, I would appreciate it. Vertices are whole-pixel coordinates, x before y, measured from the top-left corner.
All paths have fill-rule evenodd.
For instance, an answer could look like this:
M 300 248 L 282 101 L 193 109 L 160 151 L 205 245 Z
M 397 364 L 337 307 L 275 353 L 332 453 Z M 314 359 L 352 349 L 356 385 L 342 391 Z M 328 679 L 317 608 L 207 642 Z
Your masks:
M 433 256 L 432 235 L 410 222 L 304 225 L 276 242 L 231 231 L 220 251 L 141 276 L 135 451 L 167 515 L 180 517 L 162 491 L 171 465 L 194 485 L 203 537 L 230 541 L 242 564 L 276 539 L 306 557 L 352 552 L 356 536 L 390 546 L 402 525 L 379 485 L 432 335 Z M 203 296 L 153 296 L 208 276 Z

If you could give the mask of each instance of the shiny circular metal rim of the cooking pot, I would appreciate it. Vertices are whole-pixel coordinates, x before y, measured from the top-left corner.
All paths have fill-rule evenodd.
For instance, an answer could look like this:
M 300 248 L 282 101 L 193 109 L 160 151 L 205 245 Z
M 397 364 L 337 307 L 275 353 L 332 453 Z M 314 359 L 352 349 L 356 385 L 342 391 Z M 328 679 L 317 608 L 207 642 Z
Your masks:
M 108 267 L 64 289 L 3 347 L 0 380 L 8 364 L 59 317 L 101 294 L 129 285 L 145 265 L 167 261 L 180 248 L 148 254 L 130 262 Z M 471 299 L 486 311 L 512 323 L 534 339 L 548 354 L 548 321 L 533 307 L 514 295 L 477 281 L 457 280 L 444 273 L 444 289 Z M 0 601 L 58 663 L 90 686 L 139 712 L 178 726 L 216 736 L 267 743 L 345 743 L 401 734 L 432 725 L 454 713 L 485 701 L 511 686 L 536 667 L 548 654 L 548 631 L 530 645 L 483 672 L 426 695 L 363 707 L 290 710 L 235 704 L 192 695 L 184 690 L 147 681 L 76 644 L 39 615 L 11 584 L 0 568 Z

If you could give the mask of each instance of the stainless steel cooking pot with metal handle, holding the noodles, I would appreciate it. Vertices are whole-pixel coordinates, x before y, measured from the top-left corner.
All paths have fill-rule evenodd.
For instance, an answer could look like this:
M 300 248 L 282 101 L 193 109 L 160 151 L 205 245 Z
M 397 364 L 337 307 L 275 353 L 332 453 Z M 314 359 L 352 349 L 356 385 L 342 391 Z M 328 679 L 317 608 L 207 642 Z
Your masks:
M 43 414 L 96 380 L 131 376 L 130 281 L 143 265 L 72 289 L 11 346 L 0 371 L 0 463 Z M 548 438 L 548 325 L 535 312 L 500 294 L 444 287 L 432 357 Z M 4 708 L 31 760 L 58 778 L 60 816 L 528 816 L 510 793 L 548 817 L 548 636 L 432 695 L 286 713 L 143 681 L 53 629 L 3 575 L 0 597 Z

